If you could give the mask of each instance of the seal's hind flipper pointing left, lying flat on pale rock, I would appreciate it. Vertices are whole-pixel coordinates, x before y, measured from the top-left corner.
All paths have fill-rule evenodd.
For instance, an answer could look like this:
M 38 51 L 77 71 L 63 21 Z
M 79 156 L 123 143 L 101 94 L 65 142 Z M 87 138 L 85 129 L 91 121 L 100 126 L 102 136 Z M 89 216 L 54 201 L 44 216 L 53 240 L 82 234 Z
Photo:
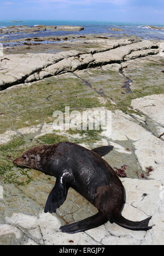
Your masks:
M 70 225 L 61 226 L 60 230 L 62 232 L 74 234 L 77 232 L 93 229 L 94 227 L 106 223 L 107 220 L 107 217 L 105 217 L 102 213 L 98 212 L 96 215 L 93 215 L 92 217 L 86 218 L 84 220 L 78 221 Z

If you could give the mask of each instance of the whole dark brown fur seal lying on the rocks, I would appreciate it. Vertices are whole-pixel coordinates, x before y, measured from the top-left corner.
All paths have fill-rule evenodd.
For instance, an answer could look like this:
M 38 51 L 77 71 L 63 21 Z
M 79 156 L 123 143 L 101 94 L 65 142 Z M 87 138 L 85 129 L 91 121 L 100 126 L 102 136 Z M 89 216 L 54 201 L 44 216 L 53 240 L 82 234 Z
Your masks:
M 98 213 L 70 225 L 61 226 L 69 234 L 92 229 L 106 223 L 116 223 L 126 229 L 149 230 L 151 217 L 142 221 L 127 220 L 121 215 L 124 186 L 112 167 L 101 156 L 113 146 L 93 150 L 74 143 L 40 145 L 22 153 L 14 160 L 19 167 L 33 168 L 56 177 L 56 184 L 45 204 L 44 212 L 54 213 L 65 202 L 69 187 L 79 192 Z

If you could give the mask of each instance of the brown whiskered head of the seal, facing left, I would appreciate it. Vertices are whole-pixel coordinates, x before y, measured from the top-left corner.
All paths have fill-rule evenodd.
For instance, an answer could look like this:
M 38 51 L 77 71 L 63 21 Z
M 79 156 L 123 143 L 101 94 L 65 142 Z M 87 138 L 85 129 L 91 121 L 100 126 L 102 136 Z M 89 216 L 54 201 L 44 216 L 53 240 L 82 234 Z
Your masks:
M 18 167 L 40 170 L 40 152 L 42 152 L 42 146 L 32 147 L 22 153 L 13 162 Z

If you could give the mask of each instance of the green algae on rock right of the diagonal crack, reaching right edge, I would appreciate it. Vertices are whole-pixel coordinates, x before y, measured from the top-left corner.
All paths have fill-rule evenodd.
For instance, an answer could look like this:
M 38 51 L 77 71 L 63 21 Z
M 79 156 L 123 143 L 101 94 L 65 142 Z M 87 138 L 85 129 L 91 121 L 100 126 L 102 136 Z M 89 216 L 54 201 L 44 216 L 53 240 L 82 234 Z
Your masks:
M 90 86 L 96 89 L 98 93 L 103 92 L 102 96 L 107 101 L 104 106 L 107 109 L 112 111 L 119 109 L 125 113 L 140 115 L 140 113 L 131 109 L 131 101 L 133 99 L 164 93 L 163 60 L 159 59 L 158 61 L 161 61 L 161 64 L 150 61 L 139 63 L 139 67 L 137 67 L 137 60 L 134 60 L 131 65 L 128 65 L 126 76 L 132 80 L 131 93 L 126 93 L 124 88 L 126 78 L 117 71 L 107 70 L 106 68 L 105 71 L 88 69 L 85 73 L 83 71 L 77 73 L 81 78 L 85 75 L 85 80 L 89 81 Z M 112 99 L 116 105 L 111 104 L 109 99 Z

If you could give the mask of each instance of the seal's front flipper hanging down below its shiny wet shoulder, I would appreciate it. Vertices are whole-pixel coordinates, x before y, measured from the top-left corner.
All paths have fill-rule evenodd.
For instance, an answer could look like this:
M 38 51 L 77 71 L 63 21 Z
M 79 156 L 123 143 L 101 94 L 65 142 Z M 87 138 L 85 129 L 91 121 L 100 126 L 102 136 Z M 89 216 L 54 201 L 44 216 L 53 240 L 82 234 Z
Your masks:
M 51 190 L 45 204 L 44 212 L 55 213 L 67 197 L 68 187 L 62 183 L 62 178 L 56 179 L 56 184 Z

